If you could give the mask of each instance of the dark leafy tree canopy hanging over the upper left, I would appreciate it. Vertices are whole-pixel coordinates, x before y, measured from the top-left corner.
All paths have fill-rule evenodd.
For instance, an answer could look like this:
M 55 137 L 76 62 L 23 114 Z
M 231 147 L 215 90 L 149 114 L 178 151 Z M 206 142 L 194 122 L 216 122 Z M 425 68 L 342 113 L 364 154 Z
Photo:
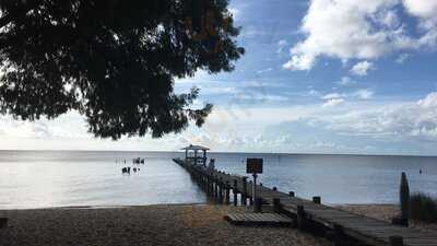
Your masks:
M 212 109 L 174 79 L 232 71 L 228 0 L 0 0 L 0 110 L 24 120 L 69 110 L 96 137 L 162 137 Z

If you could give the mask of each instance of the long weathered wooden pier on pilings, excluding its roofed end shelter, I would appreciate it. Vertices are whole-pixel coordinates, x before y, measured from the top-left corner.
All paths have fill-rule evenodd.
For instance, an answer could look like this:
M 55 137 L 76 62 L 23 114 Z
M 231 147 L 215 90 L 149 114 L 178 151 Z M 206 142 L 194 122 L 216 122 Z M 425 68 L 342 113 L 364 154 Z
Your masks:
M 247 177 L 231 175 L 202 165 L 174 160 L 182 166 L 199 186 L 218 202 L 235 206 L 261 203 L 272 204 L 277 212 L 296 221 L 300 230 L 320 229 L 335 245 L 352 245 L 349 239 L 362 245 L 375 246 L 437 246 L 437 233 L 393 225 L 388 222 L 357 215 L 336 208 L 321 204 L 320 197 L 312 201 L 295 197 L 293 191 L 279 191 L 275 187 L 257 186 L 257 201 L 253 201 L 251 181 Z M 233 199 L 231 199 L 231 197 Z

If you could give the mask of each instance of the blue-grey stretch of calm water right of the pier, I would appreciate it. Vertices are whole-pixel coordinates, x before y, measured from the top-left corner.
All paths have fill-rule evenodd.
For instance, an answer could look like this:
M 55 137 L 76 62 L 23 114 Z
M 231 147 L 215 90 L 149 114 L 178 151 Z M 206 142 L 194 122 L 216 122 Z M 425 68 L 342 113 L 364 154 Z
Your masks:
M 295 191 L 303 198 L 321 196 L 326 203 L 395 203 L 401 172 L 412 192 L 437 195 L 437 157 L 227 154 L 214 155 L 216 167 L 245 174 L 246 157 L 264 159 L 263 185 Z M 239 164 L 235 164 L 239 163 Z M 420 169 L 423 174 L 420 174 Z

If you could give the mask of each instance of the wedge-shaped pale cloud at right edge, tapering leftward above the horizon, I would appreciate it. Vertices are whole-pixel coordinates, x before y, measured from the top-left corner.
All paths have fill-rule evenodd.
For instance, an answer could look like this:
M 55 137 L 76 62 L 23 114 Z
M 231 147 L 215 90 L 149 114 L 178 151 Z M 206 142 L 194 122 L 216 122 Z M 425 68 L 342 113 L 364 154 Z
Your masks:
M 437 92 L 417 103 L 355 110 L 323 120 L 329 121 L 327 125 L 332 129 L 347 134 L 437 142 Z

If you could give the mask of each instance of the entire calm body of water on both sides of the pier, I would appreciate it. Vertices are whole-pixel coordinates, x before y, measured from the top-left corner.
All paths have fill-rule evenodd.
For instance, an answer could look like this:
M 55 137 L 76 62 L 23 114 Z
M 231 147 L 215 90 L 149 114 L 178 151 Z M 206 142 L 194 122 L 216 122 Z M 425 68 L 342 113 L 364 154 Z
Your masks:
M 144 157 L 121 175 L 122 160 Z M 0 151 L 0 209 L 205 202 L 172 159 L 181 153 Z M 260 181 L 328 203 L 392 203 L 400 173 L 412 191 L 437 196 L 437 157 L 212 153 L 216 167 L 245 174 L 247 157 L 263 157 Z M 116 163 L 117 161 L 117 163 Z M 423 169 L 423 174 L 418 171 Z

